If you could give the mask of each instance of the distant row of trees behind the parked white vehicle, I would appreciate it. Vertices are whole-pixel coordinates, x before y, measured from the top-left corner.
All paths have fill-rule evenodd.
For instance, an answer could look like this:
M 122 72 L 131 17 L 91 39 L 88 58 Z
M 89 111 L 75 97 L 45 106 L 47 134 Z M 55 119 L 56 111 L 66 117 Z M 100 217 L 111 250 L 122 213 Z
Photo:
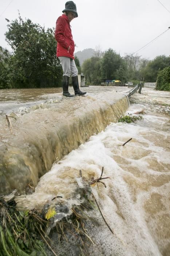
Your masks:
M 126 54 L 121 57 L 113 49 L 106 52 L 99 49 L 95 51 L 95 56 L 86 59 L 82 64 L 86 81 L 90 84 L 99 85 L 102 80 L 120 80 L 122 84 L 131 81 L 139 84 L 141 77 L 145 82 L 156 82 L 160 70 L 169 66 L 170 57 L 165 55 L 157 56 L 154 60 L 142 59 L 141 56 Z M 162 90 L 163 87 L 159 87 Z M 169 86 L 164 86 L 169 90 Z

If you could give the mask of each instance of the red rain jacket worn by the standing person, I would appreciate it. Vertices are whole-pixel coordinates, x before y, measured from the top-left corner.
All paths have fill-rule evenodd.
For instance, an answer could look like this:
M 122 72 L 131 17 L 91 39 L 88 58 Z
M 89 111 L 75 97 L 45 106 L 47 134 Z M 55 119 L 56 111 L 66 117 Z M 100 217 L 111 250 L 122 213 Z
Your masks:
M 56 21 L 55 39 L 57 41 L 57 57 L 65 56 L 74 59 L 74 41 L 72 39 L 70 21 L 63 14 Z M 68 47 L 70 50 L 68 51 Z

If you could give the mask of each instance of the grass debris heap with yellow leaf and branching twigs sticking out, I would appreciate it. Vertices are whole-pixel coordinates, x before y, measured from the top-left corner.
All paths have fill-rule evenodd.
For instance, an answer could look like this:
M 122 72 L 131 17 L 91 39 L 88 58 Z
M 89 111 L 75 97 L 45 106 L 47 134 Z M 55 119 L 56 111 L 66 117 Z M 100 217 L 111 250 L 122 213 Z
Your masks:
M 91 190 L 91 185 L 98 185 L 99 182 L 106 187 L 101 180 L 109 177 L 102 177 L 102 174 L 99 178 L 87 181 L 80 171 L 80 177 L 76 178 L 80 187 L 77 187 L 75 193 L 79 194 L 82 203 L 78 205 L 65 202 L 62 196 L 56 196 L 41 210 L 19 211 L 15 197 L 8 202 L 0 198 L 0 256 L 47 256 L 48 250 L 58 255 L 49 236 L 51 230 L 58 234 L 58 243 L 68 242 L 70 236 L 75 237 L 79 255 L 89 255 L 89 245 L 94 242 L 85 228 L 89 217 L 84 209 L 93 210 L 96 203 L 102 215 Z M 106 225 L 110 229 L 107 222 Z

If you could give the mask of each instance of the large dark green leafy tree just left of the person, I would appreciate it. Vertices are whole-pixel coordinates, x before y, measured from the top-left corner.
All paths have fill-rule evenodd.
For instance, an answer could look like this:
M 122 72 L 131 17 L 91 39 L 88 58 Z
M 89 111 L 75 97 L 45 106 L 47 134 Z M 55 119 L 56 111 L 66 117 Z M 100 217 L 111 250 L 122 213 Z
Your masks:
M 13 50 L 12 87 L 60 86 L 62 67 L 56 58 L 54 29 L 45 31 L 30 19 L 23 20 L 20 14 L 7 27 L 6 41 Z

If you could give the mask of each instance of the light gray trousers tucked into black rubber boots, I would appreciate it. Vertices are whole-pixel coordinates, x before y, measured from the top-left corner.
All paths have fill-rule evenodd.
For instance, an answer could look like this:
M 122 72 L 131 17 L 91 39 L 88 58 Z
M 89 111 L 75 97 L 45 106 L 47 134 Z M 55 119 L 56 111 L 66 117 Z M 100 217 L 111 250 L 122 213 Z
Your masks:
M 63 76 L 77 76 L 78 69 L 76 68 L 75 61 L 69 57 L 58 57 L 63 68 Z

